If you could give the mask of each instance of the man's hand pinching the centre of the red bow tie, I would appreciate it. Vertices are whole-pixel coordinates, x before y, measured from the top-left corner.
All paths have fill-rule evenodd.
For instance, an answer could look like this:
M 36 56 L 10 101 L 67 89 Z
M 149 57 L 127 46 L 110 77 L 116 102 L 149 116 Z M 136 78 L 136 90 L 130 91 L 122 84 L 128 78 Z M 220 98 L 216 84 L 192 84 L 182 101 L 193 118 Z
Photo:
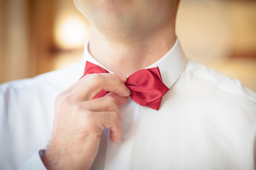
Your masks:
M 42 157 L 47 169 L 90 169 L 104 128 L 110 128 L 112 142 L 119 141 L 119 107 L 130 93 L 125 81 L 126 77 L 116 74 L 87 74 L 58 95 L 53 135 Z M 92 99 L 102 89 L 110 93 Z

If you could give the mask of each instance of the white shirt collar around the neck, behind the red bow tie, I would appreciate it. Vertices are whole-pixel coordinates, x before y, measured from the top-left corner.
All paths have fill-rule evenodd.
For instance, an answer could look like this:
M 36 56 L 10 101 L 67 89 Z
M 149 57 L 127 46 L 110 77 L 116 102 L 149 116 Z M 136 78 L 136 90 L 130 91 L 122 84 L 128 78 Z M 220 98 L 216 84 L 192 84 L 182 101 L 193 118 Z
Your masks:
M 84 49 L 84 62 L 92 62 L 93 64 L 97 64 L 100 67 L 106 69 L 108 72 L 112 73 L 110 70 L 105 68 L 102 64 L 97 62 L 95 58 L 93 58 L 90 55 L 90 52 L 88 50 L 89 47 L 89 40 L 85 43 L 85 49 Z M 186 68 L 188 60 L 186 59 L 183 50 L 181 48 L 181 45 L 179 43 L 179 40 L 177 39 L 174 46 L 171 47 L 171 50 L 164 55 L 164 57 L 161 57 L 160 60 L 155 62 L 154 64 L 151 64 L 148 68 L 153 67 L 159 67 L 159 70 L 161 72 L 161 78 L 164 82 L 164 84 L 167 87 L 171 87 L 178 79 L 178 77 L 181 76 L 183 70 Z

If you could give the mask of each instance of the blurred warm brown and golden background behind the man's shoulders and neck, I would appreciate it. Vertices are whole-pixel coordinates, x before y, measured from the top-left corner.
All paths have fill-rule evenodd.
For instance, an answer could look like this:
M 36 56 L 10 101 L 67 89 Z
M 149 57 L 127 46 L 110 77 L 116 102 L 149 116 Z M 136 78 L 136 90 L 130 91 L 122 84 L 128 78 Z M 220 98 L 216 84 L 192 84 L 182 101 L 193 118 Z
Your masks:
M 0 83 L 78 62 L 89 31 L 72 0 L 0 0 Z M 181 0 L 176 32 L 188 58 L 256 91 L 256 0 Z

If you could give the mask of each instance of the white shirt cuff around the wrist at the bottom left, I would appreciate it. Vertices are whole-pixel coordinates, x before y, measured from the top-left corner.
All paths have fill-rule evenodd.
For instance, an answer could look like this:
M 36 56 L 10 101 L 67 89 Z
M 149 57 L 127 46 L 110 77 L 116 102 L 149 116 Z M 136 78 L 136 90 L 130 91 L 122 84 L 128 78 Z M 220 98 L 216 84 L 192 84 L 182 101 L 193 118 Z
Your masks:
M 46 166 L 44 166 L 41 157 L 44 154 L 43 149 L 41 149 L 39 152 L 36 152 L 33 154 L 32 157 L 30 157 L 21 167 L 18 168 L 18 170 L 28 170 L 28 169 L 40 169 L 40 170 L 47 170 Z

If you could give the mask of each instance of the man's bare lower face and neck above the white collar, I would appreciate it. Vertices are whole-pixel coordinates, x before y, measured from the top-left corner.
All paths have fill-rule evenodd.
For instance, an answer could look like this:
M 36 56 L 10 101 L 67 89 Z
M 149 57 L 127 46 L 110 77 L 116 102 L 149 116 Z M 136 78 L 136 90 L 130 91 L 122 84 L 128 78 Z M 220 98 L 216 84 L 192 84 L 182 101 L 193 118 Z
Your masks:
M 176 0 L 75 0 L 90 21 L 90 54 L 129 76 L 159 60 L 176 41 Z

